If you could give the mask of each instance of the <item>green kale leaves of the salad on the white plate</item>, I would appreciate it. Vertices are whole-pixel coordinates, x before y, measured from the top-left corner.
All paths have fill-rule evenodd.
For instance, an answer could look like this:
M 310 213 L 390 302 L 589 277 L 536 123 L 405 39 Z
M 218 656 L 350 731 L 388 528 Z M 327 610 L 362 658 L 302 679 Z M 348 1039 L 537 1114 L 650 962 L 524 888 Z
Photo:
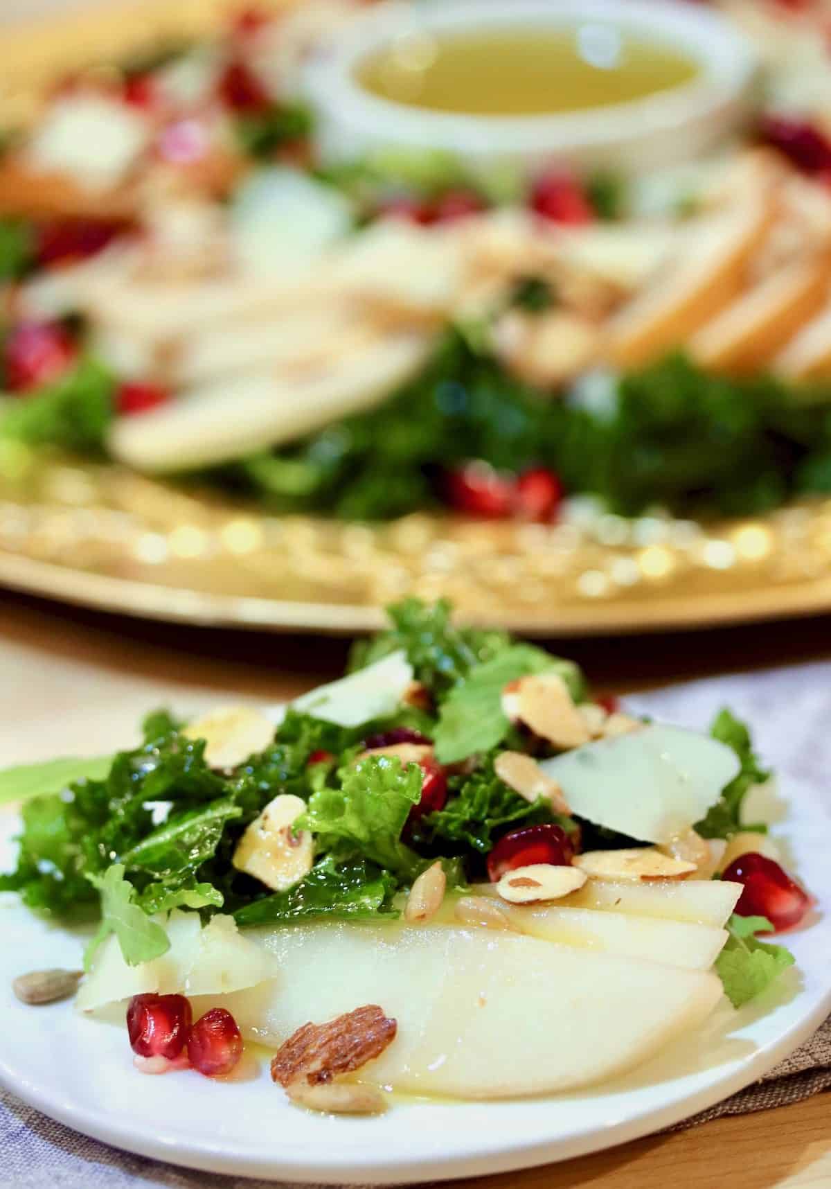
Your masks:
M 486 879 L 487 856 L 515 830 L 559 828 L 554 833 L 578 850 L 598 833 L 604 848 L 638 842 L 558 814 L 550 801 L 520 795 L 497 774 L 506 749 L 539 760 L 558 753 L 509 721 L 504 687 L 543 674 L 574 705 L 591 704 L 575 665 L 501 631 L 460 628 L 443 602 L 407 599 L 390 608 L 390 621 L 386 631 L 355 644 L 350 668 L 371 680 L 372 666 L 389 672 L 388 659 L 397 656 L 404 680 L 418 682 L 417 706 L 399 700 L 403 686 L 391 712 L 358 725 L 339 724 L 332 693 L 315 704 L 330 718 L 289 706 L 271 743 L 229 769 L 212 768 L 206 740 L 190 738 L 180 721 L 157 711 L 145 719 L 136 748 L 0 774 L 0 799 L 24 801 L 17 868 L 0 876 L 0 889 L 59 920 L 97 919 L 87 965 L 111 933 L 136 964 L 166 950 L 164 913 L 172 908 L 203 918 L 221 910 L 240 926 L 383 921 L 398 916 L 399 894 L 436 860 L 452 892 Z M 359 693 L 354 677 L 347 680 L 354 722 Z M 726 838 L 739 825 L 747 829 L 742 801 L 767 773 L 747 728 L 729 711 L 718 715 L 712 734 L 736 751 L 741 772 L 698 829 Z M 432 744 L 429 759 L 408 762 L 407 753 L 378 750 L 408 742 Z M 437 795 L 428 794 L 430 780 Z M 294 886 L 272 891 L 239 870 L 233 857 L 251 823 L 287 793 L 304 803 L 294 829 L 310 832 L 314 860 Z M 732 918 L 718 970 L 736 1004 L 764 989 L 791 961 L 779 946 L 755 939 L 767 927 Z

